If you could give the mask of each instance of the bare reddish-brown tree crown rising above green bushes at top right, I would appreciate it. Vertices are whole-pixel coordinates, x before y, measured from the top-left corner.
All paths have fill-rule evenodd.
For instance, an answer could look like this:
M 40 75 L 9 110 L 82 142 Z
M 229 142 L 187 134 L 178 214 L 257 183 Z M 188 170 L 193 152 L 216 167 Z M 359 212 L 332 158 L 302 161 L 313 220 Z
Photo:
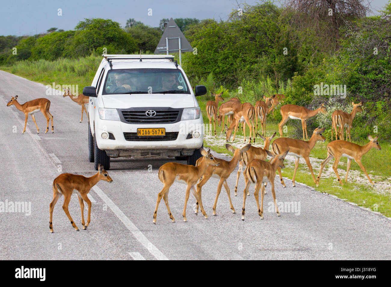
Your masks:
M 334 43 L 336 49 L 344 21 L 362 18 L 369 12 L 367 0 L 285 0 L 285 6 L 293 9 L 298 27 L 321 34 L 328 43 Z

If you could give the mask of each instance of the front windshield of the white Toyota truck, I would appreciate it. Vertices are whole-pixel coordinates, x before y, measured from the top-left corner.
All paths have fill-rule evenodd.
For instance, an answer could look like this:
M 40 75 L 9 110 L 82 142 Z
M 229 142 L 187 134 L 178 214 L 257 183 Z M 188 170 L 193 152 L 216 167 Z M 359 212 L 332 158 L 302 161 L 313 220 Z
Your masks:
M 177 69 L 109 70 L 102 94 L 190 94 Z

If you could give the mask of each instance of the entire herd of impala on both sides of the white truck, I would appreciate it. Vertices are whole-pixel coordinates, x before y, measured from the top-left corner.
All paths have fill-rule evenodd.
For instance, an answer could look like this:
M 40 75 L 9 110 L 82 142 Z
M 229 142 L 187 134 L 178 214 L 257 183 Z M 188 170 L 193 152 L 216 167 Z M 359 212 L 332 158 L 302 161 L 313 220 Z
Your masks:
M 200 152 L 202 156 L 197 160 L 196 166 L 192 166 L 192 165 L 189 166 L 185 164 L 180 164 L 178 162 L 168 162 L 166 164 L 163 164 L 158 171 L 158 177 L 160 181 L 163 183 L 163 189 L 160 191 L 160 193 L 158 193 L 158 199 L 153 214 L 153 223 L 156 223 L 156 215 L 157 215 L 157 210 L 161 198 L 163 198 L 165 202 L 171 221 L 175 222 L 174 216 L 170 211 L 170 207 L 168 203 L 169 189 L 174 182 L 181 182 L 187 185 L 185 205 L 183 207 L 183 213 L 182 213 L 183 221 L 187 221 L 186 207 L 187 207 L 187 201 L 189 198 L 190 190 L 194 194 L 196 200 L 195 213 L 197 214 L 198 209 L 200 208 L 203 216 L 205 218 L 208 218 L 203 208 L 201 191 L 202 191 L 202 186 L 211 177 L 219 178 L 216 198 L 213 204 L 213 215 L 216 215 L 217 199 L 219 198 L 222 185 L 224 185 L 224 188 L 227 192 L 228 199 L 230 202 L 230 209 L 232 210 L 233 213 L 235 213 L 235 208 L 232 205 L 230 188 L 228 187 L 227 179 L 231 175 L 231 173 L 235 170 L 238 162 L 239 162 L 239 170 L 237 173 L 237 180 L 235 185 L 235 196 L 237 196 L 237 187 L 240 178 L 240 173 L 243 171 L 244 166 L 246 166 L 243 172 L 245 188 L 243 193 L 242 220 L 244 220 L 246 196 L 249 195 L 249 186 L 251 184 L 255 184 L 254 195 L 258 206 L 258 214 L 260 218 L 263 219 L 264 216 L 263 200 L 264 200 L 264 194 L 266 193 L 265 187 L 267 183 L 270 183 L 271 185 L 275 211 L 277 212 L 277 215 L 280 216 L 280 212 L 277 207 L 277 201 L 274 192 L 274 177 L 276 176 L 276 171 L 278 171 L 281 184 L 283 185 L 283 187 L 286 187 L 281 174 L 281 168 L 284 168 L 283 160 L 285 159 L 286 155 L 293 155 L 296 157 L 294 174 L 292 178 L 293 186 L 295 186 L 296 171 L 298 169 L 300 157 L 303 157 L 305 159 L 316 186 L 319 186 L 320 176 L 323 171 L 323 168 L 325 167 L 327 162 L 330 161 L 332 158 L 334 158 L 333 169 L 337 176 L 337 180 L 341 185 L 343 185 L 343 182 L 339 177 L 337 171 L 337 165 L 341 157 L 347 157 L 348 159 L 345 182 L 347 182 L 348 180 L 350 164 L 352 162 L 352 159 L 354 159 L 357 162 L 357 164 L 360 166 L 362 171 L 364 171 L 365 175 L 368 177 L 369 182 L 373 185 L 371 178 L 369 178 L 368 173 L 366 172 L 364 166 L 361 163 L 361 157 L 372 148 L 377 148 L 378 150 L 381 149 L 377 141 L 378 137 L 373 138 L 371 137 L 371 135 L 368 134 L 369 143 L 364 146 L 360 146 L 358 144 L 352 143 L 350 139 L 350 129 L 352 128 L 353 119 L 357 112 L 362 112 L 362 104 L 363 104 L 362 102 L 357 104 L 352 102 L 353 111 L 350 114 L 343 112 L 341 110 L 337 110 L 333 112 L 332 134 L 335 131 L 336 140 L 331 141 L 327 145 L 326 147 L 327 158 L 322 162 L 319 175 L 317 176 L 317 178 L 315 178 L 314 172 L 312 170 L 312 166 L 310 164 L 309 156 L 312 148 L 314 148 L 317 141 L 326 140 L 326 138 L 322 135 L 325 128 L 316 128 L 313 131 L 310 139 L 308 139 L 307 119 L 316 116 L 319 113 L 326 114 L 327 111 L 323 103 L 319 106 L 319 108 L 317 108 L 314 111 L 298 105 L 288 105 L 288 104 L 282 105 L 280 109 L 282 120 L 278 124 L 280 137 L 275 139 L 273 143 L 271 143 L 271 140 L 276 135 L 276 132 L 274 132 L 274 134 L 271 135 L 270 137 L 266 137 L 266 116 L 267 114 L 272 112 L 273 109 L 276 108 L 276 106 L 280 102 L 282 102 L 283 98 L 285 97 L 283 94 L 273 94 L 268 98 L 264 96 L 264 101 L 262 100 L 257 101 L 255 103 L 255 107 L 251 103 L 241 103 L 238 98 L 231 98 L 229 101 L 224 102 L 224 98 L 222 98 L 222 93 L 220 94 L 212 93 L 212 95 L 215 97 L 215 101 L 209 101 L 206 104 L 206 114 L 208 116 L 209 126 L 210 126 L 209 135 L 211 134 L 212 131 L 212 121 L 214 124 L 215 136 L 217 135 L 216 134 L 216 120 L 217 120 L 219 126 L 221 126 L 221 122 L 222 122 L 223 125 L 222 132 L 224 132 L 225 130 L 226 141 L 227 142 L 230 141 L 232 132 L 234 132 L 233 139 L 232 139 L 232 141 L 234 141 L 236 132 L 239 129 L 239 123 L 242 123 L 242 130 L 244 134 L 245 143 L 246 143 L 246 125 L 248 125 L 249 127 L 249 143 L 240 149 L 239 148 L 235 149 L 230 144 L 226 144 L 226 149 L 233 153 L 233 158 L 230 161 L 224 159 L 218 159 L 210 153 L 210 150 L 205 151 L 203 148 L 201 148 Z M 88 104 L 88 97 L 83 96 L 83 94 L 80 94 L 79 96 L 74 96 L 70 92 L 70 89 L 64 90 L 63 97 L 66 96 L 69 96 L 74 102 L 81 105 L 80 122 L 82 122 L 83 112 L 84 111 L 86 112 L 85 105 Z M 12 97 L 11 100 L 7 103 L 7 106 L 15 105 L 15 107 L 18 110 L 22 111 L 25 114 L 25 126 L 22 134 L 26 130 L 26 124 L 27 124 L 27 119 L 29 114 L 31 115 L 34 121 L 37 128 L 37 133 L 39 134 L 39 128 L 38 125 L 36 124 L 35 117 L 34 117 L 34 113 L 38 111 L 41 111 L 42 114 L 47 119 L 47 128 L 45 134 L 49 130 L 50 119 L 52 121 L 52 132 L 54 132 L 53 116 L 49 112 L 49 108 L 50 108 L 49 100 L 47 100 L 46 98 L 39 98 L 29 102 L 25 102 L 24 104 L 20 104 L 18 103 L 17 99 L 18 96 Z M 219 102 L 223 102 L 220 105 L 220 107 L 219 107 Z M 228 118 L 227 118 L 227 123 L 225 124 L 226 116 Z M 254 119 L 256 121 L 256 124 L 254 124 Z M 261 122 L 262 135 L 258 134 L 258 119 L 260 119 Z M 292 139 L 289 137 L 282 137 L 283 125 L 285 125 L 285 123 L 289 119 L 301 120 L 301 125 L 303 128 L 303 140 Z M 228 125 L 230 126 L 228 127 Z M 344 140 L 345 128 L 346 128 L 346 141 Z M 259 135 L 264 141 L 264 148 L 257 148 L 255 146 L 251 146 L 251 138 L 252 138 L 251 135 L 253 137 L 253 142 L 255 142 L 256 135 Z M 348 136 L 349 136 L 349 141 L 347 141 Z M 307 141 L 305 141 L 305 138 L 307 139 Z M 270 144 L 271 144 L 271 151 L 269 151 Z M 265 161 L 267 156 L 272 158 L 269 162 Z M 63 209 L 66 215 L 68 216 L 72 226 L 75 228 L 75 230 L 79 231 L 79 228 L 77 228 L 76 224 L 74 223 L 68 211 L 68 204 L 70 202 L 70 198 L 73 193 L 76 193 L 79 198 L 83 229 L 87 228 L 87 226 L 90 224 L 90 214 L 91 214 L 91 201 L 88 199 L 87 194 L 89 193 L 91 187 L 97 184 L 97 182 L 99 182 L 100 180 L 113 182 L 113 180 L 108 175 L 107 171 L 103 169 L 103 166 L 99 166 L 99 171 L 91 177 L 74 175 L 70 173 L 63 173 L 57 176 L 57 178 L 53 182 L 53 201 L 50 203 L 50 221 L 49 221 L 50 232 L 53 232 L 52 213 L 53 213 L 54 205 L 56 204 L 58 198 L 61 195 L 64 195 Z M 261 205 L 259 205 L 259 199 L 258 199 L 258 194 L 260 190 L 261 190 Z M 84 222 L 83 200 L 86 201 L 86 203 L 88 204 L 87 224 L 85 224 Z

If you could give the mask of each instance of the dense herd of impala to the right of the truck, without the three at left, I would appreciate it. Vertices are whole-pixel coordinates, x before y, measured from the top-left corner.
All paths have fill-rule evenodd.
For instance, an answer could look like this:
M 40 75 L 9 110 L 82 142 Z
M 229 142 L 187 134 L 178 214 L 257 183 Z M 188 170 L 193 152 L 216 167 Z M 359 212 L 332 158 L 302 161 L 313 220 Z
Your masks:
M 221 123 L 223 125 L 221 132 L 225 131 L 226 141 L 230 141 L 232 132 L 232 141 L 235 141 L 235 135 L 237 130 L 239 129 L 239 123 L 242 123 L 244 143 L 246 143 L 246 125 L 248 125 L 249 127 L 249 143 L 240 149 L 235 149 L 230 144 L 226 144 L 226 149 L 233 153 L 233 158 L 230 161 L 218 159 L 210 153 L 210 150 L 206 152 L 203 148 L 201 148 L 200 152 L 202 157 L 197 160 L 196 166 L 187 166 L 185 164 L 180 164 L 177 162 L 169 162 L 163 164 L 163 166 L 160 167 L 158 172 L 159 179 L 163 183 L 163 189 L 160 191 L 160 193 L 158 193 L 158 200 L 156 202 L 156 207 L 153 214 L 153 223 L 156 224 L 156 215 L 158 212 L 158 206 L 161 201 L 161 198 L 163 198 L 166 204 L 171 221 L 175 222 L 168 202 L 169 189 L 174 182 L 181 182 L 187 184 L 185 205 L 183 207 L 182 213 L 183 220 L 187 221 L 186 206 L 190 190 L 194 194 L 196 200 L 195 213 L 198 214 L 198 209 L 200 208 L 203 216 L 205 218 L 208 218 L 203 208 L 201 192 L 203 185 L 211 177 L 219 179 L 219 182 L 217 184 L 216 198 L 213 204 L 213 215 L 216 215 L 217 199 L 219 198 L 219 194 L 223 185 L 228 195 L 230 209 L 233 213 L 235 213 L 235 208 L 233 207 L 231 201 L 230 188 L 228 187 L 227 178 L 234 171 L 238 162 L 239 170 L 237 173 L 235 185 L 235 196 L 237 196 L 240 173 L 243 171 L 244 166 L 246 166 L 243 172 L 245 188 L 243 192 L 242 220 L 244 220 L 246 197 L 247 195 L 249 195 L 249 186 L 251 184 L 255 184 L 254 196 L 260 218 L 264 218 L 263 203 L 264 194 L 266 193 L 265 187 L 267 183 L 270 183 L 271 185 L 271 191 L 274 200 L 274 209 L 277 212 L 277 215 L 280 216 L 280 212 L 277 207 L 276 195 L 274 192 L 274 177 L 276 176 L 276 171 L 278 171 L 281 184 L 283 185 L 283 187 L 286 187 L 281 174 L 281 168 L 284 168 L 283 160 L 285 159 L 286 155 L 293 155 L 294 157 L 296 157 L 295 168 L 292 178 L 293 186 L 295 186 L 295 177 L 299 166 L 300 157 L 303 157 L 305 159 L 305 162 L 307 163 L 308 169 L 311 172 L 312 178 L 316 186 L 319 186 L 319 180 L 323 168 L 325 167 L 326 163 L 332 158 L 335 159 L 333 169 L 335 174 L 337 175 L 338 182 L 343 185 L 343 182 L 341 181 L 341 178 L 339 177 L 337 171 L 337 165 L 341 157 L 348 158 L 345 182 L 347 182 L 348 180 L 350 164 L 352 162 L 352 159 L 354 159 L 360 166 L 362 171 L 364 171 L 364 173 L 368 177 L 369 182 L 373 185 L 371 178 L 369 178 L 368 173 L 366 172 L 364 166 L 361 163 L 361 157 L 369 150 L 371 150 L 371 148 L 377 148 L 378 150 L 381 149 L 377 141 L 377 137 L 372 138 L 371 135 L 368 134 L 369 143 L 364 146 L 360 146 L 358 144 L 350 142 L 350 128 L 352 128 L 353 119 L 356 113 L 362 112 L 362 102 L 357 104 L 352 102 L 353 111 L 350 114 L 341 110 L 333 112 L 332 132 L 335 130 L 335 137 L 336 139 L 338 139 L 339 137 L 339 140 L 332 141 L 327 145 L 327 158 L 322 162 L 319 175 L 317 176 L 317 178 L 315 178 L 314 171 L 312 170 L 312 166 L 310 163 L 310 153 L 317 141 L 326 140 L 326 138 L 322 135 L 322 133 L 325 131 L 325 128 L 316 128 L 313 131 L 312 136 L 308 139 L 307 119 L 312 118 L 319 113 L 327 114 L 324 103 L 320 104 L 319 107 L 313 111 L 298 105 L 282 105 L 280 109 L 282 120 L 278 124 L 280 137 L 273 141 L 273 143 L 271 144 L 270 152 L 269 146 L 271 140 L 276 135 L 276 132 L 274 132 L 272 136 L 266 137 L 266 116 L 267 114 L 272 112 L 273 109 L 276 108 L 276 106 L 280 102 L 282 102 L 285 96 L 283 94 L 273 94 L 268 98 L 264 96 L 265 101 L 257 101 L 254 107 L 251 103 L 241 103 L 238 98 L 231 98 L 227 102 L 224 102 L 222 94 L 223 93 L 212 93 L 212 95 L 215 97 L 215 100 L 208 101 L 206 103 L 206 115 L 209 119 L 209 135 L 211 135 L 212 133 L 212 121 L 214 126 L 214 134 L 215 136 L 217 135 L 217 120 L 219 126 L 221 126 Z M 219 102 L 223 102 L 220 107 Z M 226 116 L 228 117 L 227 124 L 225 124 Z M 262 135 L 258 134 L 258 119 L 260 119 L 261 122 Z M 303 140 L 282 137 L 283 125 L 285 125 L 285 123 L 289 119 L 301 120 L 301 126 L 303 129 Z M 254 120 L 256 121 L 255 125 Z M 230 127 L 228 127 L 228 125 L 230 125 Z M 346 141 L 344 141 L 345 128 Z M 259 135 L 264 141 L 264 148 L 257 148 L 255 146 L 251 146 L 251 135 L 253 135 L 253 142 L 255 142 L 256 135 Z M 347 141 L 348 135 L 349 141 Z M 305 139 L 307 139 L 307 141 L 305 141 Z M 267 156 L 270 156 L 272 158 L 268 162 L 265 161 Z M 259 205 L 260 190 L 261 205 Z

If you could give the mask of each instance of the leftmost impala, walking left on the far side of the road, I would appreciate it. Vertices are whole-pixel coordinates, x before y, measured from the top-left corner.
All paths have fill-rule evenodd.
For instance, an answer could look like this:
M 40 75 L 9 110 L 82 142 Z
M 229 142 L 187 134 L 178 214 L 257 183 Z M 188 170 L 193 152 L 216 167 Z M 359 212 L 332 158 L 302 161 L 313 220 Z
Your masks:
M 49 112 L 50 101 L 48 99 L 39 98 L 39 99 L 31 100 L 29 102 L 25 102 L 21 105 L 16 100 L 17 98 L 18 98 L 18 96 L 12 97 L 11 100 L 9 100 L 9 102 L 7 103 L 7 107 L 9 107 L 11 105 L 15 105 L 16 109 L 24 112 L 24 114 L 25 114 L 25 127 L 23 128 L 22 134 L 24 134 L 24 132 L 26 131 L 27 118 L 29 118 L 29 114 L 31 115 L 31 118 L 34 121 L 35 126 L 37 127 L 37 134 L 39 134 L 39 128 L 38 128 L 38 125 L 35 121 L 35 116 L 34 116 L 34 113 L 39 112 L 39 111 L 42 112 L 43 116 L 45 116 L 46 121 L 47 121 L 47 127 L 46 127 L 45 134 L 49 131 L 49 119 L 52 120 L 52 133 L 54 133 L 53 116 Z

